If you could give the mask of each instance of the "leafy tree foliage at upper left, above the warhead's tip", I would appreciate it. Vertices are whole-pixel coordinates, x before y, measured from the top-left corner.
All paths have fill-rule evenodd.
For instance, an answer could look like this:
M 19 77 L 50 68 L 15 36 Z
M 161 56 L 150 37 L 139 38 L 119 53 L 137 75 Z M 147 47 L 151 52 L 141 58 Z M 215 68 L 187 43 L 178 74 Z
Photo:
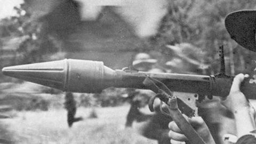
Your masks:
M 2 37 L 25 37 L 18 42 L 18 47 L 10 47 L 10 49 L 17 49 L 17 53 L 21 55 L 12 65 L 40 62 L 43 61 L 45 54 L 49 55 L 59 50 L 60 42 L 44 33 L 45 27 L 42 27 L 42 23 L 36 18 L 31 17 L 26 3 L 14 9 L 18 15 L 1 20 L 0 26 L 0 29 L 5 30 Z

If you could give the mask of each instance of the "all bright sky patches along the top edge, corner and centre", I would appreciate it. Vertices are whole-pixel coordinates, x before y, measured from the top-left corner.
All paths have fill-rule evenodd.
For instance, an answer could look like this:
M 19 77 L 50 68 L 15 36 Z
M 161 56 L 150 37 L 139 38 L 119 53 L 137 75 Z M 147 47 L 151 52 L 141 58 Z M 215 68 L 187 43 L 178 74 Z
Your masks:
M 48 0 L 51 1 L 51 0 Z M 169 0 L 76 0 L 81 4 L 83 20 L 97 19 L 102 6 L 119 6 L 117 12 L 135 29 L 140 37 L 154 35 L 159 22 L 167 12 Z M 0 19 L 16 15 L 14 6 L 19 6 L 23 0 L 0 0 Z

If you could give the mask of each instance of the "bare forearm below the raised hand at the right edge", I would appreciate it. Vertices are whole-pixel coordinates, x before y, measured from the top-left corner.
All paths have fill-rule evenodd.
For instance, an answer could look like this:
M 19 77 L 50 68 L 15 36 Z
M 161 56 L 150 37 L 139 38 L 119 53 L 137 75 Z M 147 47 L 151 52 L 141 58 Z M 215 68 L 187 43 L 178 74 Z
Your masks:
M 250 107 L 235 110 L 234 116 L 238 138 L 250 134 L 251 131 L 255 130 L 255 121 L 253 115 L 250 113 Z

